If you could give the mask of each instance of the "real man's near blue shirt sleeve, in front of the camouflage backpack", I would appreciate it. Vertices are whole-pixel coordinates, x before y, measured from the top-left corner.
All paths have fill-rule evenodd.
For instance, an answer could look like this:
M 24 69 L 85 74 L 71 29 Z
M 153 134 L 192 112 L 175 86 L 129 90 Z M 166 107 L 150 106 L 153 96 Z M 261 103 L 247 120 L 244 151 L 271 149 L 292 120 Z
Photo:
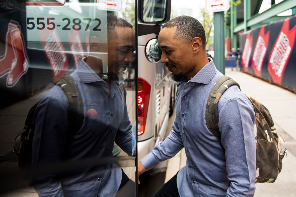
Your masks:
M 256 177 L 255 113 L 246 99 L 225 102 L 219 113 L 221 142 L 225 149 L 230 186 L 227 196 L 253 196 Z

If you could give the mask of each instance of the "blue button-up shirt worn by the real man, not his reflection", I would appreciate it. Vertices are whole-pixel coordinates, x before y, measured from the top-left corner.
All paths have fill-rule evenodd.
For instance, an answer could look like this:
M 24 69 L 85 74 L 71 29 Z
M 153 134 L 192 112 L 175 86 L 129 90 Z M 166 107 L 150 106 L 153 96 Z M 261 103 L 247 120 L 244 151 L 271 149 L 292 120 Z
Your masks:
M 186 166 L 177 175 L 180 196 L 252 196 L 256 176 L 255 113 L 237 86 L 224 92 L 218 103 L 224 150 L 205 121 L 207 98 L 223 75 L 209 60 L 188 82 L 175 82 L 179 92 L 173 130 L 141 162 L 149 170 L 184 147 Z

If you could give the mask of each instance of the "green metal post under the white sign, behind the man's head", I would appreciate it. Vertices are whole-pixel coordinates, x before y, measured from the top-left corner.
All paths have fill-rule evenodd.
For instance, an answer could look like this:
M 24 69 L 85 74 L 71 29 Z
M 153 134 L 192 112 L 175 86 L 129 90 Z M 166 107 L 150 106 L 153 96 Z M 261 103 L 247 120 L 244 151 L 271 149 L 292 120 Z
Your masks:
M 225 74 L 224 12 L 214 12 L 214 63 Z

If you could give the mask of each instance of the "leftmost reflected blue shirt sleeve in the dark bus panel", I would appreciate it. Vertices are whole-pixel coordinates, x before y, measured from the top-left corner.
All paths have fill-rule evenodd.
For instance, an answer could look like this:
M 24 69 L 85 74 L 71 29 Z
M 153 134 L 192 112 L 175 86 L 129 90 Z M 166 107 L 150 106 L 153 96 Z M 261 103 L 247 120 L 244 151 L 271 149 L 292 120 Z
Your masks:
M 65 102 L 67 103 L 67 102 Z M 61 100 L 42 98 L 35 110 L 35 132 L 32 144 L 32 167 L 60 162 L 67 144 L 67 110 Z M 55 174 L 33 178 L 33 185 L 40 196 L 63 196 Z

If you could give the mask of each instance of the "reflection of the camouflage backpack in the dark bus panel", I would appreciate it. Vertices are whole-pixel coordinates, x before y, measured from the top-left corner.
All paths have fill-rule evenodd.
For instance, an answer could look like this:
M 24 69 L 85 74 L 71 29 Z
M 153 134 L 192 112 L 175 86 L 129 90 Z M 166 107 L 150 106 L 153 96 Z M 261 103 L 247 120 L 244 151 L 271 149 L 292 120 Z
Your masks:
M 67 137 L 71 138 L 81 128 L 83 122 L 83 105 L 81 95 L 75 80 L 70 75 L 65 75 L 62 79 L 57 80 L 55 84 L 62 88 L 69 100 L 68 131 L 71 131 L 71 133 L 67 133 Z M 36 106 L 37 103 L 29 110 L 23 132 L 15 137 L 13 152 L 15 152 L 19 157 L 18 165 L 21 169 L 23 167 L 31 166 L 32 143 L 35 129 L 34 112 Z

